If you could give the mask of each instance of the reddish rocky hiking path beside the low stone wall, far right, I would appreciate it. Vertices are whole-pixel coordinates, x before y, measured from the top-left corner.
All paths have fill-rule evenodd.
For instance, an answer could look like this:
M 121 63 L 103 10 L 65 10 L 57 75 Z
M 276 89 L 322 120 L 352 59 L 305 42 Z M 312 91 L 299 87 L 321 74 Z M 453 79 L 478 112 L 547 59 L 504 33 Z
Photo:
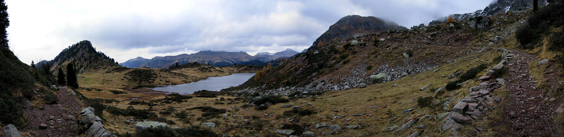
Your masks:
M 507 133 L 499 133 L 500 136 L 560 136 L 554 118 L 558 116 L 556 109 L 561 101 L 550 98 L 548 89 L 540 89 L 529 72 L 531 62 L 538 59 L 522 51 L 512 52 L 516 56 L 507 67 L 507 100 L 500 106 L 504 109 L 503 120 L 494 120 L 499 125 L 510 127 Z

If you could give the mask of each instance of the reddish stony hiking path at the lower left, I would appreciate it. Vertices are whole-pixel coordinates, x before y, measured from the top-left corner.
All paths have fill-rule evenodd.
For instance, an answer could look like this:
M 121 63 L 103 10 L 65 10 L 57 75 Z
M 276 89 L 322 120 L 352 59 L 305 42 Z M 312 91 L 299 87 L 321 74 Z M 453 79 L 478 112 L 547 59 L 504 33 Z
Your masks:
M 59 86 L 57 104 L 46 104 L 43 110 L 34 111 L 29 118 L 34 136 L 77 136 L 77 114 L 82 108 L 76 94 L 65 86 Z

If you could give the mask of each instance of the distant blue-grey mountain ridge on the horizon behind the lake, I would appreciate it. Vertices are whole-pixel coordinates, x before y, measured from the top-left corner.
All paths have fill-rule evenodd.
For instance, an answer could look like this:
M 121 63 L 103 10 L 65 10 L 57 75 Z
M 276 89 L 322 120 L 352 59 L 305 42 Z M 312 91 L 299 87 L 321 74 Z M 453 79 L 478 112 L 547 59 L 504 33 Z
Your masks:
M 281 57 L 291 57 L 297 54 L 292 49 L 286 49 L 281 52 L 257 53 L 255 56 L 250 56 L 246 52 L 224 52 L 224 51 L 200 51 L 193 54 L 179 54 L 177 56 L 153 57 L 150 60 L 142 57 L 136 57 L 126 62 L 120 63 L 121 66 L 137 68 L 137 67 L 150 67 L 150 68 L 168 68 L 191 62 L 198 62 L 202 64 L 209 64 L 211 66 L 227 66 L 233 64 L 249 64 L 258 65 L 265 62 L 276 60 Z

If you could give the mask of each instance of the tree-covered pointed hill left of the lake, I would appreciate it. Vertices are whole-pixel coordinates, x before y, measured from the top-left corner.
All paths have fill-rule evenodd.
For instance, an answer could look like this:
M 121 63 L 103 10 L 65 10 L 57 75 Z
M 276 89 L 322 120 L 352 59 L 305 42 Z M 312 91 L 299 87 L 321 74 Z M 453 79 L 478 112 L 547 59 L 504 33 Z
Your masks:
M 49 64 L 52 72 L 55 72 L 59 67 L 63 67 L 63 70 L 65 70 L 65 66 L 68 63 L 74 63 L 74 67 L 76 67 L 78 72 L 93 67 L 119 67 L 113 58 L 106 56 L 102 52 L 97 52 L 96 48 L 92 47 L 92 43 L 88 40 L 83 40 L 63 49 L 51 61 L 44 60 L 36 63 L 36 67 L 40 68 L 43 63 Z

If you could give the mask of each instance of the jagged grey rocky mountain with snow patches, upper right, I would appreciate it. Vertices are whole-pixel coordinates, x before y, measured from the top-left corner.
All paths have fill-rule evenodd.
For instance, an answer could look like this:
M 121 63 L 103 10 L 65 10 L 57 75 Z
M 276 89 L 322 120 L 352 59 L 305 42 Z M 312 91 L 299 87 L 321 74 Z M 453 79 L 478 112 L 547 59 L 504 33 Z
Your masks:
M 533 0 L 497 0 L 490 3 L 489 6 L 484 8 L 484 10 L 477 10 L 472 13 L 464 13 L 464 14 L 453 14 L 449 15 L 452 16 L 453 20 L 461 21 L 464 19 L 468 19 L 469 17 L 477 17 L 477 16 L 492 16 L 492 15 L 499 15 L 504 14 L 507 12 L 515 12 L 526 10 L 532 8 Z M 548 4 L 547 1 L 539 0 L 539 7 L 545 6 Z M 433 20 L 429 22 L 429 25 L 439 24 L 442 22 L 446 22 L 448 17 L 441 17 L 437 20 Z

